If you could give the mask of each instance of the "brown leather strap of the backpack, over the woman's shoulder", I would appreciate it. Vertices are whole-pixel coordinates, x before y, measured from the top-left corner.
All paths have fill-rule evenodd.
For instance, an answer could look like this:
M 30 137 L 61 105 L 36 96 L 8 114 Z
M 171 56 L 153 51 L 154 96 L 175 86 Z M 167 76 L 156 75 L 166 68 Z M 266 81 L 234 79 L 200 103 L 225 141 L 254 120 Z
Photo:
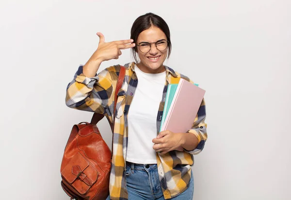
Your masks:
M 120 88 L 122 86 L 124 77 L 125 77 L 125 67 L 124 66 L 120 66 L 119 76 L 118 76 L 118 80 L 117 80 L 117 83 L 116 83 L 116 89 L 115 89 L 115 95 L 114 95 L 113 124 L 111 125 L 112 133 L 113 133 L 113 127 L 114 127 L 115 110 L 116 110 L 116 103 L 117 103 L 117 94 L 118 94 L 118 91 L 120 90 Z M 104 117 L 104 115 L 102 115 L 102 114 L 94 113 L 94 115 L 93 115 L 93 117 L 91 119 L 91 124 L 97 124 L 103 117 Z

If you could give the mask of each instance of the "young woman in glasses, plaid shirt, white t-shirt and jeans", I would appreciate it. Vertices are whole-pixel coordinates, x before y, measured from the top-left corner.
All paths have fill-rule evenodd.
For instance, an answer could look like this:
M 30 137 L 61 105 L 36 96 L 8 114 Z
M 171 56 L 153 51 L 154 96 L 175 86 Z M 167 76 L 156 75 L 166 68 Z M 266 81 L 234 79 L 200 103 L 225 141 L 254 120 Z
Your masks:
M 171 53 L 168 25 L 147 13 L 134 21 L 131 39 L 105 42 L 102 33 L 97 35 L 97 50 L 67 87 L 66 105 L 104 114 L 111 123 L 115 117 L 107 200 L 192 200 L 193 155 L 207 139 L 205 102 L 187 133 L 159 132 L 168 84 L 181 78 L 193 83 L 163 65 Z M 126 77 L 113 113 L 120 67 L 96 74 L 102 62 L 118 59 L 121 50 L 129 48 L 135 62 L 125 65 Z

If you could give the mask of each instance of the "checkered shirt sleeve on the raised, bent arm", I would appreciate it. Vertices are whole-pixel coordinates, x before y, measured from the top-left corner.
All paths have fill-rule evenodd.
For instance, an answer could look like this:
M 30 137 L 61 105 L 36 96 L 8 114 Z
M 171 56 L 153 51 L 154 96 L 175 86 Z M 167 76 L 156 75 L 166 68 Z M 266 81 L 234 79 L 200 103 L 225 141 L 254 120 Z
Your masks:
M 88 78 L 83 74 L 83 66 L 80 66 L 67 86 L 65 103 L 70 108 L 104 114 L 112 94 L 113 83 L 107 69 Z

